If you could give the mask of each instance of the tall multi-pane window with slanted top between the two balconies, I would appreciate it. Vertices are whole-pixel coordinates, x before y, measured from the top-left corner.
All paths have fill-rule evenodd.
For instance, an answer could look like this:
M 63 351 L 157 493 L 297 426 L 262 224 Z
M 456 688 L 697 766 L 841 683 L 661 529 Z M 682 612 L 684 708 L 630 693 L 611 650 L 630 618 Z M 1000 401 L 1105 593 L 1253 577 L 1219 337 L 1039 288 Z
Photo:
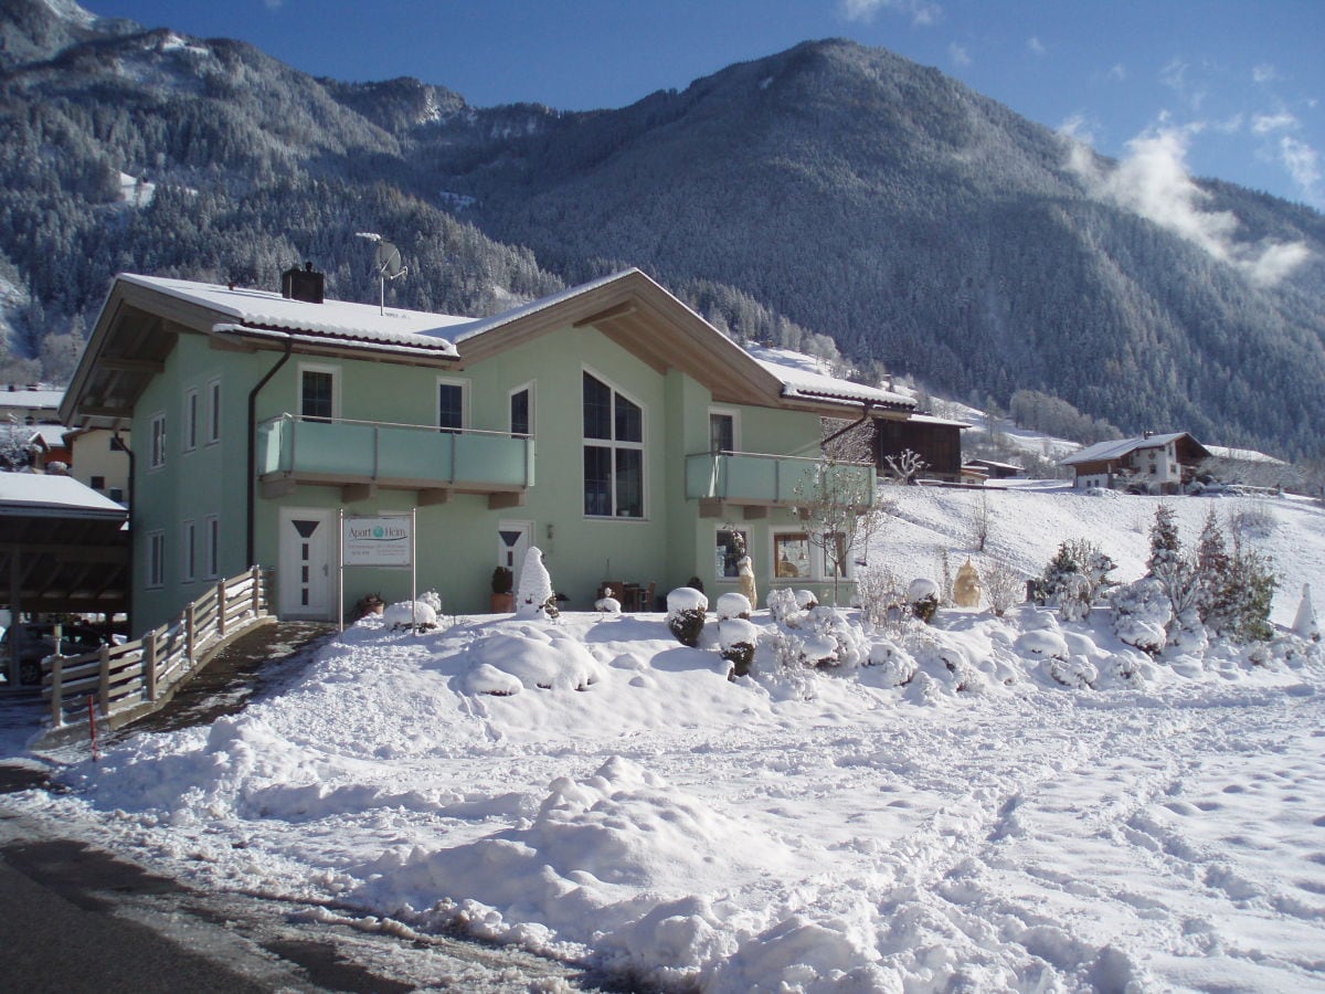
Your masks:
M 644 408 L 584 374 L 584 513 L 644 517 Z

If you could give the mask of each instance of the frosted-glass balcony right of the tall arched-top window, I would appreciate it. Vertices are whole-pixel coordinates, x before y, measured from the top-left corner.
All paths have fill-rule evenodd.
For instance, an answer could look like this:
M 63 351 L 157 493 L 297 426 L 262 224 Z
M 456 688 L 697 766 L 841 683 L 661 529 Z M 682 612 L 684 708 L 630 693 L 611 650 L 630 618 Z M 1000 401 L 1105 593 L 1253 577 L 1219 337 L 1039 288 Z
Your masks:
M 872 463 L 755 452 L 697 452 L 685 457 L 685 496 L 700 501 L 700 517 L 758 518 L 768 508 L 837 504 L 864 510 L 874 502 Z M 739 516 L 731 508 L 742 509 Z

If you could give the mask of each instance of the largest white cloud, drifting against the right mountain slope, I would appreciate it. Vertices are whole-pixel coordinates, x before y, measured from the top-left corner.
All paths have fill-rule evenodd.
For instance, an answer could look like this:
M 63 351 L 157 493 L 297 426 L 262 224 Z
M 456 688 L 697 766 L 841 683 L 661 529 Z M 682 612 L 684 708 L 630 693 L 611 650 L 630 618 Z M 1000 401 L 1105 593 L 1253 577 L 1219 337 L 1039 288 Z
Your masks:
M 1210 193 L 1187 172 L 1187 146 L 1200 127 L 1146 131 L 1128 142 L 1128 154 L 1112 170 L 1101 167 L 1072 131 L 1063 134 L 1071 139 L 1068 166 L 1092 195 L 1167 228 L 1259 284 L 1273 285 L 1305 262 L 1310 252 L 1304 243 L 1240 243 L 1240 223 L 1231 211 L 1204 209 Z

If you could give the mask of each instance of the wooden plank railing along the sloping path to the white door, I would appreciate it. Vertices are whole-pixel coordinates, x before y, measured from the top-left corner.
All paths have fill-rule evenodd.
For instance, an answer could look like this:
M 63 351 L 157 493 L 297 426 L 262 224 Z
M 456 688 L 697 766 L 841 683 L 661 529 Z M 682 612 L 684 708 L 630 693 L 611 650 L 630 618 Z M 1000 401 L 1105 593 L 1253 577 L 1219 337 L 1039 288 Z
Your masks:
M 50 701 L 49 728 L 86 724 L 93 720 L 90 709 L 111 728 L 148 714 L 220 645 L 270 620 L 268 578 L 254 566 L 220 580 L 172 624 L 154 628 L 138 641 L 103 645 L 82 656 L 46 656 L 41 693 Z

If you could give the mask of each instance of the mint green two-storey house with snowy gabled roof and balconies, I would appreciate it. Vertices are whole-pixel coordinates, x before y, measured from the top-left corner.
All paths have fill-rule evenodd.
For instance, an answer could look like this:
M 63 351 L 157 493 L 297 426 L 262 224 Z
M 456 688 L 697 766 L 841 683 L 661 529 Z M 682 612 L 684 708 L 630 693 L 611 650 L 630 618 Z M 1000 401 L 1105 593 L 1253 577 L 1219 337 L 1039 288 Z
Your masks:
M 794 510 L 822 419 L 910 410 L 758 360 L 633 269 L 480 319 L 298 296 L 110 290 L 61 416 L 131 429 L 135 628 L 250 565 L 284 618 L 334 619 L 339 575 L 347 608 L 408 596 L 407 570 L 341 574 L 342 514 L 413 512 L 419 590 L 449 614 L 489 611 L 493 569 L 530 546 L 568 610 L 604 582 L 735 590 L 738 539 L 761 596 L 822 590 L 831 563 Z M 873 500 L 872 465 L 829 473 Z

